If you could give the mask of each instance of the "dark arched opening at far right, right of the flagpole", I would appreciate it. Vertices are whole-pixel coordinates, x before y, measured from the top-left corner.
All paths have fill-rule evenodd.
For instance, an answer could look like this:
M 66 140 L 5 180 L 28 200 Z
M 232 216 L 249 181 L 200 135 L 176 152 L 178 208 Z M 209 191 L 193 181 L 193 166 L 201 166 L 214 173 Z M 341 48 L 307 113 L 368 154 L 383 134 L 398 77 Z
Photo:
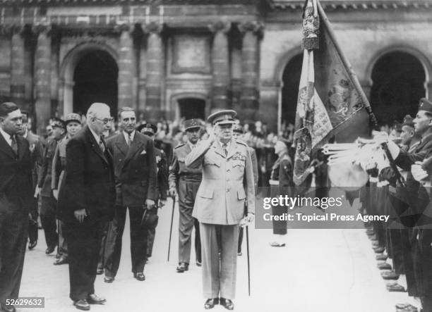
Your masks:
M 371 106 L 378 123 L 392 125 L 405 115 L 415 116 L 419 99 L 426 95 L 426 73 L 418 58 L 405 51 L 388 52 L 371 72 Z

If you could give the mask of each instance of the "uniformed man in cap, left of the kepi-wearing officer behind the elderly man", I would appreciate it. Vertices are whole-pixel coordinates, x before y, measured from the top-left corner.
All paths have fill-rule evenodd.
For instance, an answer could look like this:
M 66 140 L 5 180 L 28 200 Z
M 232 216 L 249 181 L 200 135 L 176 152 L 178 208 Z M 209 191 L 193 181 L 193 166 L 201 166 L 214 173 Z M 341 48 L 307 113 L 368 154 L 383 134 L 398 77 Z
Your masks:
M 42 206 L 40 211 L 40 220 L 45 233 L 45 241 L 47 242 L 47 250 L 45 254 L 52 254 L 58 243 L 57 225 L 56 225 L 56 199 L 52 194 L 51 189 L 51 170 L 52 159 L 56 151 L 57 143 L 63 138 L 65 132 L 64 121 L 54 119 L 52 122 L 52 138 L 47 142 L 44 151 L 44 162 L 42 170 L 38 176 L 35 197 L 40 194 L 42 196 Z

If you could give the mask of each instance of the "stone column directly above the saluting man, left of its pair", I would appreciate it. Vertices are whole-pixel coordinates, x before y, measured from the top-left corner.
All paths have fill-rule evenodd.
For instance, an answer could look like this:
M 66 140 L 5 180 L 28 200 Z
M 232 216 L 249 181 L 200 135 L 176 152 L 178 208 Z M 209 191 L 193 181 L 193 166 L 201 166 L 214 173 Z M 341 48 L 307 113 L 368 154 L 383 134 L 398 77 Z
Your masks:
M 212 46 L 212 106 L 210 113 L 230 106 L 229 45 L 227 32 L 231 23 L 217 22 L 209 26 L 215 33 Z

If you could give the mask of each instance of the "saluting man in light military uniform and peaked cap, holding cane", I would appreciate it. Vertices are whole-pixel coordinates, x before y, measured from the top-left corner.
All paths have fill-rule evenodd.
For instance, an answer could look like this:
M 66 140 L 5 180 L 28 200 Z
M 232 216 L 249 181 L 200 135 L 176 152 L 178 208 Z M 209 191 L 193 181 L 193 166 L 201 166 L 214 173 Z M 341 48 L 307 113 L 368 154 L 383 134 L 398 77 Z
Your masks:
M 251 154 L 246 143 L 232 137 L 235 116 L 232 110 L 212 113 L 208 122 L 214 134 L 185 159 L 190 168 L 203 166 L 193 217 L 200 222 L 206 309 L 215 304 L 234 309 L 239 224 L 251 222 L 255 211 Z

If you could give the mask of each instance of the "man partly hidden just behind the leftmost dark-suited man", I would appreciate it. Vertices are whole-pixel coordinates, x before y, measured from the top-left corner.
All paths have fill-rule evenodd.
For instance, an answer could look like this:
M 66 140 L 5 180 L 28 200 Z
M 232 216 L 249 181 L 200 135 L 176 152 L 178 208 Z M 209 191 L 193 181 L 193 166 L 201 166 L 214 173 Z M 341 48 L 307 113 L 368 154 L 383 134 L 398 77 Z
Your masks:
M 32 133 L 29 129 L 28 112 L 21 111 L 21 113 L 23 116 L 23 128 L 20 135 L 22 135 L 24 139 L 27 139 L 28 144 L 30 145 L 30 156 L 32 159 L 32 182 L 33 189 L 35 189 L 37 185 L 37 174 L 40 172 L 44 160 L 44 146 L 40 140 L 40 137 Z M 30 250 L 35 248 L 37 245 L 38 216 L 39 212 L 37 211 L 37 198 L 33 198 L 31 202 L 28 222 L 28 249 Z

